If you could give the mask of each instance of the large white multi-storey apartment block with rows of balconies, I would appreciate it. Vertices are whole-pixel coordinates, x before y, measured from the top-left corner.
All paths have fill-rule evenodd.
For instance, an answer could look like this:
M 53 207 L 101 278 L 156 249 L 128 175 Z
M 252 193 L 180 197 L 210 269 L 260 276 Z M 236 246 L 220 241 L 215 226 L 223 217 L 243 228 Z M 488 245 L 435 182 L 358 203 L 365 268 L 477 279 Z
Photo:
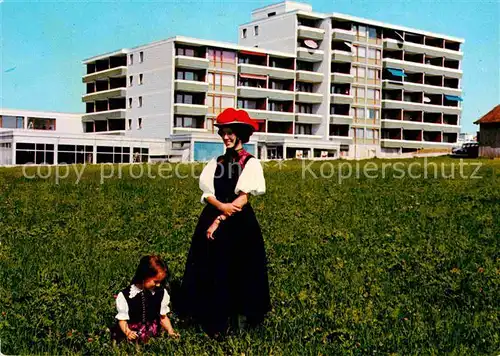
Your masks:
M 259 121 L 259 158 L 446 152 L 461 117 L 462 39 L 282 2 L 239 44 L 174 37 L 84 61 L 86 132 L 166 138 L 190 160 L 222 153 L 227 107 Z

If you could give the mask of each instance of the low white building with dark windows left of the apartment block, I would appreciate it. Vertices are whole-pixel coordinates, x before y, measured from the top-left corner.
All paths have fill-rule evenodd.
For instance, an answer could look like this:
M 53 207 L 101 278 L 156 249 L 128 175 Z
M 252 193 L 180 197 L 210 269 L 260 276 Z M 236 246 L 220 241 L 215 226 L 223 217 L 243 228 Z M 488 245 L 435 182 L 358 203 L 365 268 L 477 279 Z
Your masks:
M 170 158 L 165 140 L 84 133 L 82 115 L 0 109 L 0 165 L 131 163 Z

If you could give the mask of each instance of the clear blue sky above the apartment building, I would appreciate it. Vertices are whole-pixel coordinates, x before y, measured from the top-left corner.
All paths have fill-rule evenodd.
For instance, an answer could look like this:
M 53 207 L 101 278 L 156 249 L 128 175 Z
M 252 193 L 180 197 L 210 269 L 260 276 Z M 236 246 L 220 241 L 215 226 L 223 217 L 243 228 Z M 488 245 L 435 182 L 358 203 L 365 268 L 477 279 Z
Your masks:
M 174 35 L 237 42 L 250 12 L 277 1 L 0 0 L 0 106 L 82 112 L 85 58 Z M 462 130 L 500 103 L 500 2 L 308 1 L 340 12 L 465 38 Z

